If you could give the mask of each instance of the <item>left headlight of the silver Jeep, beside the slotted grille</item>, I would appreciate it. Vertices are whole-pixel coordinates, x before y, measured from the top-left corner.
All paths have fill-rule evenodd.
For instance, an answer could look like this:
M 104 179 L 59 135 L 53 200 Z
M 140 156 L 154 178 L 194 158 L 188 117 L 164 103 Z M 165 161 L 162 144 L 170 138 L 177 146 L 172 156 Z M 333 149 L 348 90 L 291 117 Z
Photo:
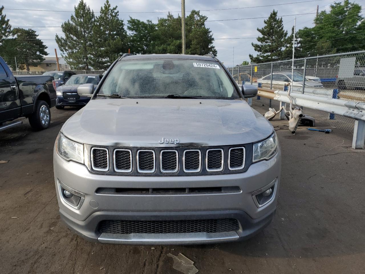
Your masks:
M 71 141 L 62 133 L 57 137 L 57 153 L 67 161 L 84 163 L 84 145 Z

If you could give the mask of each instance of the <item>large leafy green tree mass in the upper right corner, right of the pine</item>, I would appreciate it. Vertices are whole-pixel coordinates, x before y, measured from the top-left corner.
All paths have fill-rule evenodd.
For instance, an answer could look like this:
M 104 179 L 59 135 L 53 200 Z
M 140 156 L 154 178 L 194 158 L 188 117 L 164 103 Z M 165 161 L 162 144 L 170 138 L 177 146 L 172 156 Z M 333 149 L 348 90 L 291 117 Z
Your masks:
M 365 41 L 365 22 L 361 6 L 349 0 L 335 2 L 330 11 L 321 11 L 315 26 L 298 31 L 304 56 L 358 50 Z

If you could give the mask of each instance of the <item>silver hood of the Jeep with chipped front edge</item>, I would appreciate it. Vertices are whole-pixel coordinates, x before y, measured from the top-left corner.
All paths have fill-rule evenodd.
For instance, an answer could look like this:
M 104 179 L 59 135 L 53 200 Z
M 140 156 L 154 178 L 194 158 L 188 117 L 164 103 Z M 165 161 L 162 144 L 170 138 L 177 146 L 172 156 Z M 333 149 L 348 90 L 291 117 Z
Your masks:
M 158 141 L 179 139 L 178 146 L 247 144 L 265 139 L 273 128 L 243 100 L 97 99 L 61 131 L 91 145 L 173 147 Z

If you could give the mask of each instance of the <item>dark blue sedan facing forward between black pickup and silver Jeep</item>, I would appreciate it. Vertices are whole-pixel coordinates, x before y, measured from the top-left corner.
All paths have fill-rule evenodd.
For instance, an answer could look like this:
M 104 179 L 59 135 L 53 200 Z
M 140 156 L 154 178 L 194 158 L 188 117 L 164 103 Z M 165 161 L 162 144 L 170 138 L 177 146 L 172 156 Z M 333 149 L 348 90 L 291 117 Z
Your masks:
M 85 106 L 90 100 L 89 97 L 81 97 L 77 94 L 77 87 L 81 84 L 99 84 L 102 75 L 98 74 L 77 74 L 71 76 L 64 85 L 57 88 L 56 109 L 64 109 L 65 106 Z

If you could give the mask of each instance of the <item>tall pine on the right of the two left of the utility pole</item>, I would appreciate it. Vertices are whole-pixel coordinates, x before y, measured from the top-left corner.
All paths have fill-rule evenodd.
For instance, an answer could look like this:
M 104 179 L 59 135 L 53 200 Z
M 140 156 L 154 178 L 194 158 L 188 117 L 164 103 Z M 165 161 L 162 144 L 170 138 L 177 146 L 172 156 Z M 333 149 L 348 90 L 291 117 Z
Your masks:
M 128 51 L 128 36 L 123 20 L 119 19 L 117 6 L 111 8 L 109 0 L 100 9 L 92 33 L 91 66 L 108 69 L 123 53 Z

